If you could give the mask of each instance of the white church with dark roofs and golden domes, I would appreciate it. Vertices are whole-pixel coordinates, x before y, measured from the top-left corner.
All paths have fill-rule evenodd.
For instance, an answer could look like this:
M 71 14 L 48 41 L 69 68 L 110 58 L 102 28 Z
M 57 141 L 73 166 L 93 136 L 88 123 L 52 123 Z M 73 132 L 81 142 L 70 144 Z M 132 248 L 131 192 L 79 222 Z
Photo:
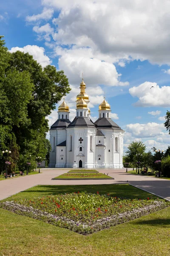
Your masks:
M 111 119 L 111 106 L 105 99 L 99 105 L 99 118 L 92 122 L 85 88 L 82 79 L 72 122 L 65 100 L 58 108 L 58 119 L 50 128 L 49 167 L 123 168 L 124 131 Z

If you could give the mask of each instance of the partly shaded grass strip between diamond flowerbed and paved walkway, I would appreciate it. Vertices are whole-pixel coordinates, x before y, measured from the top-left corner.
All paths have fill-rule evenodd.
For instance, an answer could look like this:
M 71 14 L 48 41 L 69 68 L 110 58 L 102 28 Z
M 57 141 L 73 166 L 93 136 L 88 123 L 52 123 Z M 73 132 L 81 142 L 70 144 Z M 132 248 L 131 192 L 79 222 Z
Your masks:
M 23 198 L 37 198 L 49 195 L 65 194 L 72 192 L 88 192 L 97 193 L 100 195 L 109 194 L 120 198 L 140 198 L 147 199 L 147 197 L 157 198 L 157 196 L 137 189 L 129 184 L 106 184 L 106 185 L 38 185 L 30 189 L 22 191 L 16 195 L 11 196 L 8 200 L 16 200 Z M 3 201 L 7 201 L 4 199 Z

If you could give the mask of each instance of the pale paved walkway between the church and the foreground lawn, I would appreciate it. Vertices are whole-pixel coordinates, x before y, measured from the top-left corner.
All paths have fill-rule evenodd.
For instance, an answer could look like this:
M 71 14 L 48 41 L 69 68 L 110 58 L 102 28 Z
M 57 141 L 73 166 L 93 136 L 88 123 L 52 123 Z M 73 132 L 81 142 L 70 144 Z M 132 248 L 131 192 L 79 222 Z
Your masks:
M 43 168 L 41 174 L 8 178 L 0 180 L 0 200 L 14 195 L 20 191 L 36 185 L 94 185 L 94 184 L 115 184 L 129 183 L 147 192 L 154 193 L 170 201 L 170 180 L 157 177 L 133 175 L 126 173 L 126 169 L 97 169 L 114 180 L 51 180 L 60 174 L 68 172 L 68 169 Z

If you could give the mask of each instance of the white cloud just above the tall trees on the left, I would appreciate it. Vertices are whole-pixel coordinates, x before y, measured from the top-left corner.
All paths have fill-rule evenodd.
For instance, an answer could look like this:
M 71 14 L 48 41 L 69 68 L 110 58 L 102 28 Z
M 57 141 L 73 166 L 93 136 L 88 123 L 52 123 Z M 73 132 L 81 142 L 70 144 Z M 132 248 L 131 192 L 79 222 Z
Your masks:
M 51 60 L 47 55 L 45 55 L 45 49 L 43 47 L 39 47 L 37 45 L 26 45 L 23 48 L 12 47 L 10 50 L 10 52 L 16 51 L 28 52 L 30 55 L 33 55 L 34 60 L 40 63 L 42 67 L 51 64 Z

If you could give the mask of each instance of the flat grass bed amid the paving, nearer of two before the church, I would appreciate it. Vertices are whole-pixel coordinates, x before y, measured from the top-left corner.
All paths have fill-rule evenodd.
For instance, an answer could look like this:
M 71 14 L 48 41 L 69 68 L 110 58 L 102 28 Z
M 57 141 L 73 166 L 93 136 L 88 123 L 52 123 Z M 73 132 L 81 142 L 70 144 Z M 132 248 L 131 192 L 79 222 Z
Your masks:
M 112 177 L 102 173 L 64 173 L 55 177 L 54 179 L 108 179 Z

